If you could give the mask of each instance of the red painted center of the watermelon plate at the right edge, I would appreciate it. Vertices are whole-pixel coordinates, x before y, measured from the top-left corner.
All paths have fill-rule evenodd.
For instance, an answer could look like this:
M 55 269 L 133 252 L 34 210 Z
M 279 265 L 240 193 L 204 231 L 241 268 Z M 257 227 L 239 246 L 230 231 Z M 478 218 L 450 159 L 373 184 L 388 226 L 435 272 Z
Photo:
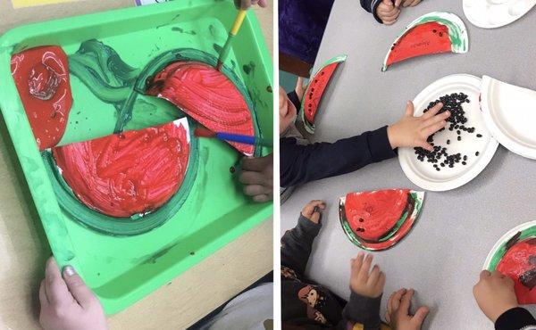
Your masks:
M 536 237 L 519 240 L 521 233 L 515 240 L 510 240 L 507 252 L 498 262 L 497 270 L 514 280 L 515 295 L 520 304 L 533 304 L 536 302 L 536 266 L 533 260 L 536 256 Z

